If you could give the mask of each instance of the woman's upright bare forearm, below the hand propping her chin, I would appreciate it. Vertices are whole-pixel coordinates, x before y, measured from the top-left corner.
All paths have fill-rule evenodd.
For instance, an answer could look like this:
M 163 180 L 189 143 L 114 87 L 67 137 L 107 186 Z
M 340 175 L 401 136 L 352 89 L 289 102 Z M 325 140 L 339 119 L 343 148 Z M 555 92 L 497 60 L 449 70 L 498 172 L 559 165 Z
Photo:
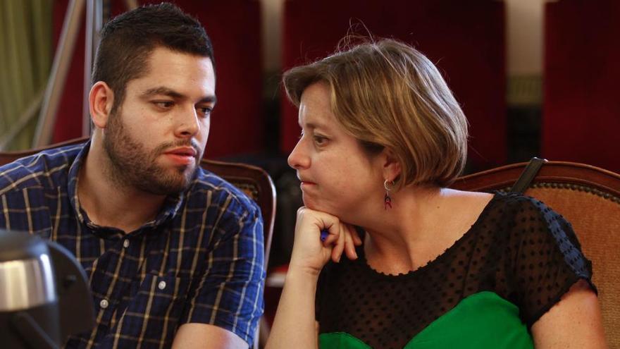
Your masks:
M 266 349 L 316 349 L 314 298 L 318 275 L 290 267 Z

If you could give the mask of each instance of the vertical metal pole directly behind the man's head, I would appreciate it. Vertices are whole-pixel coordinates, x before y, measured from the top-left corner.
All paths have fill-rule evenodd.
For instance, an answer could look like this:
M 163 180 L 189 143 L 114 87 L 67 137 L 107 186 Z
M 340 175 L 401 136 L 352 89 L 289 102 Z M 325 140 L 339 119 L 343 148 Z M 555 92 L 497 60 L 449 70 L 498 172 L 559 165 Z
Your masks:
M 82 136 L 90 135 L 89 94 L 92 64 L 99 46 L 103 23 L 103 0 L 86 1 L 86 44 L 84 52 L 84 101 L 82 102 Z

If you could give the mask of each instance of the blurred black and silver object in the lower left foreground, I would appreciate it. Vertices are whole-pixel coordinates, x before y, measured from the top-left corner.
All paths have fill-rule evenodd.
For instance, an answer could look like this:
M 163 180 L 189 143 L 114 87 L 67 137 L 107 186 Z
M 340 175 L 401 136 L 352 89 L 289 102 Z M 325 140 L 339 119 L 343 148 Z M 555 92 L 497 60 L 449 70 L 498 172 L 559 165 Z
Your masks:
M 94 327 L 80 263 L 61 245 L 0 229 L 0 347 L 58 348 Z

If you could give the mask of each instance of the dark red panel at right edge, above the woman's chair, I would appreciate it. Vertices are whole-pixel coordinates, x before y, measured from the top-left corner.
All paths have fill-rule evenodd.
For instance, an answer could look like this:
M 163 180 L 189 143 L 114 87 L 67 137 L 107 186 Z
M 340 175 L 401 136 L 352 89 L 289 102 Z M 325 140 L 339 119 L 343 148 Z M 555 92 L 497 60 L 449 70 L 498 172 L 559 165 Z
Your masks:
M 545 8 L 543 155 L 620 172 L 620 2 Z

